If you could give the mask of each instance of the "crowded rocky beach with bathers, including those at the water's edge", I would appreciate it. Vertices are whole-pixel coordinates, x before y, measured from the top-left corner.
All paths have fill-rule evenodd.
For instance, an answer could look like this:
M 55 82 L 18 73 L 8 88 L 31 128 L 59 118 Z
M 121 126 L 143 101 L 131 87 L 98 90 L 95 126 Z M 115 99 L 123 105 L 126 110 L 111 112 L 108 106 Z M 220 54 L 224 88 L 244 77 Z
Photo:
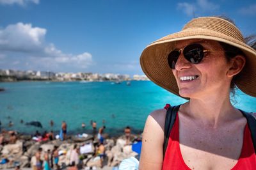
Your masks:
M 49 123 L 54 125 L 52 120 Z M 0 125 L 0 169 L 118 169 L 125 158 L 140 157 L 141 135 L 132 134 L 131 127 L 124 127 L 119 137 L 110 137 L 105 125 L 90 123 L 92 134 L 76 135 L 68 134 L 65 121 L 58 134 L 52 130 L 20 134 Z M 10 121 L 8 129 L 12 125 Z M 28 125 L 40 126 L 38 122 Z M 81 128 L 84 127 L 82 123 Z

